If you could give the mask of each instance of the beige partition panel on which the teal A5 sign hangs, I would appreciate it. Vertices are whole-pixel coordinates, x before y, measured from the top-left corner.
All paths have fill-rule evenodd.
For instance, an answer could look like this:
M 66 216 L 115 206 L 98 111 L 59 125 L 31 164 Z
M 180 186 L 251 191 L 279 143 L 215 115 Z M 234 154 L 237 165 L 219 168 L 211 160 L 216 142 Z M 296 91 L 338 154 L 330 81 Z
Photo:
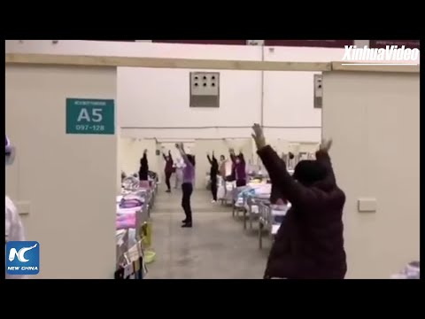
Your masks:
M 6 65 L 6 132 L 17 147 L 6 194 L 27 240 L 40 243 L 37 277 L 113 278 L 116 129 L 66 134 L 66 98 L 115 100 L 116 87 L 115 67 Z

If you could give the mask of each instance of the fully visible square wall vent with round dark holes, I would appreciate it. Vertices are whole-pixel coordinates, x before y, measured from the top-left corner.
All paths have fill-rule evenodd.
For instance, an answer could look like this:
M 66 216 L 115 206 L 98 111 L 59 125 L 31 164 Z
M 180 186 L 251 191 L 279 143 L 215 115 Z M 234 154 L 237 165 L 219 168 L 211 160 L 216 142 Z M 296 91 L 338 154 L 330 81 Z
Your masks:
M 220 73 L 190 72 L 190 107 L 220 107 Z

